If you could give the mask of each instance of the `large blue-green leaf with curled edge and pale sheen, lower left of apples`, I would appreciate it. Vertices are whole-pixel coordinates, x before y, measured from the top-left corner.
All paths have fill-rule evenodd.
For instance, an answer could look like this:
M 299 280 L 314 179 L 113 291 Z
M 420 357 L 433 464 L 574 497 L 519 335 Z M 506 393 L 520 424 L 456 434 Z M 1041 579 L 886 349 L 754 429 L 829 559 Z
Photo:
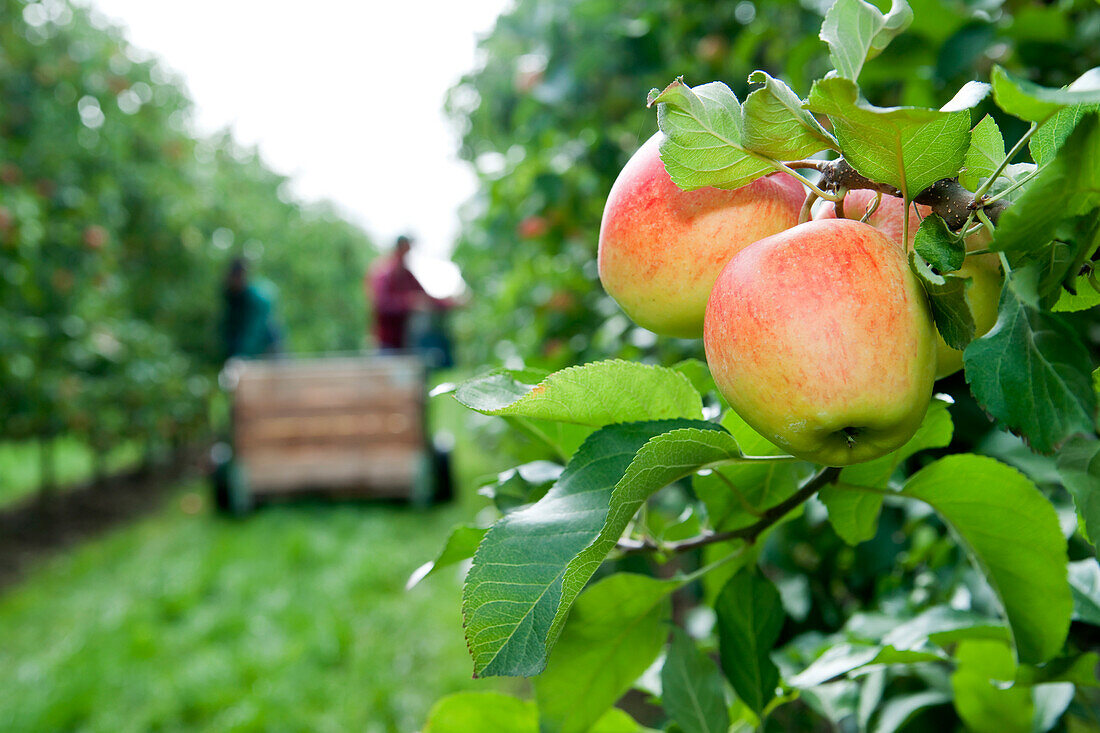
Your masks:
M 480 676 L 538 674 L 584 584 L 641 503 L 708 464 L 740 459 L 714 423 L 605 427 L 538 503 L 490 529 L 463 592 L 466 641 Z

